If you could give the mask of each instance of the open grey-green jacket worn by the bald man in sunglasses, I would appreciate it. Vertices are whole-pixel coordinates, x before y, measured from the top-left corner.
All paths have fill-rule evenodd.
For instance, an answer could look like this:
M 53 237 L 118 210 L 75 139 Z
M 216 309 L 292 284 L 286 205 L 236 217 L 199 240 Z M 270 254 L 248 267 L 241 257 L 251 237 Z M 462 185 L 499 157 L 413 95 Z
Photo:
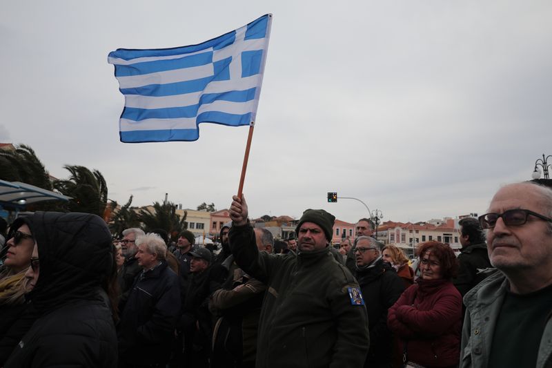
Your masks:
M 506 295 L 508 280 L 497 269 L 464 296 L 466 316 L 462 328 L 460 368 L 485 368 L 489 364 L 493 331 Z M 551 311 L 552 312 L 552 311 Z M 536 368 L 552 367 L 552 313 L 540 340 Z

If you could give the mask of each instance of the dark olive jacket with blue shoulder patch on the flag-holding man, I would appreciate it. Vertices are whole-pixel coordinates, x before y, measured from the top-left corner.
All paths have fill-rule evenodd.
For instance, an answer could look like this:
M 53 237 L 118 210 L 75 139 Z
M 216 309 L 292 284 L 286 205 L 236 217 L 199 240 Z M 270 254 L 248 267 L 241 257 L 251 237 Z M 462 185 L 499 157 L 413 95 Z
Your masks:
M 253 228 L 232 226 L 236 263 L 268 287 L 257 338 L 257 368 L 362 367 L 368 351 L 368 320 L 353 304 L 353 275 L 328 247 L 273 255 L 259 252 Z M 352 290 L 352 289 L 351 289 Z

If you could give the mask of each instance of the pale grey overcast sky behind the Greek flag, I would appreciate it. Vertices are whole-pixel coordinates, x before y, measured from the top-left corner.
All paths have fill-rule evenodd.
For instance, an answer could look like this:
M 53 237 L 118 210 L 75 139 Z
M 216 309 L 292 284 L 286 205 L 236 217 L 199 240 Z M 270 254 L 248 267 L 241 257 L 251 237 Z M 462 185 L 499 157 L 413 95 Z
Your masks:
M 51 175 L 97 168 L 135 205 L 229 206 L 248 128 L 124 144 L 117 48 L 184 46 L 274 14 L 244 193 L 250 215 L 483 213 L 552 154 L 550 1 L 6 1 L 0 142 Z

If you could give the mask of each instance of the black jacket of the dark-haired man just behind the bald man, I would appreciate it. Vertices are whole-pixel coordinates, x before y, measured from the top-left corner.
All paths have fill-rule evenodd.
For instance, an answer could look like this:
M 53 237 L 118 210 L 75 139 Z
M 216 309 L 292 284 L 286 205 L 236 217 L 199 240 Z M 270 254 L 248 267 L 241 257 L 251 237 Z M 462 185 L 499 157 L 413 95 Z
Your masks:
M 458 277 L 453 279 L 453 284 L 463 297 L 484 279 L 486 273 L 479 273 L 479 271 L 493 266 L 489 261 L 485 243 L 472 244 L 463 248 L 458 255 L 458 262 L 460 262 L 460 269 Z

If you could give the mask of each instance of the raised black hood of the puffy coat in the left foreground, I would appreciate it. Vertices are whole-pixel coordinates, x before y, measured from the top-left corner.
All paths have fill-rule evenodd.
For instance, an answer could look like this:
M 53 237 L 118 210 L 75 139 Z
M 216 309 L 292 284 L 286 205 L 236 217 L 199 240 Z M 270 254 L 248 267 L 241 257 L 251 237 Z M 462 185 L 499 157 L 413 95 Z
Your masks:
M 97 296 L 115 267 L 111 233 L 90 213 L 37 212 L 30 217 L 40 273 L 30 299 L 41 311 Z

